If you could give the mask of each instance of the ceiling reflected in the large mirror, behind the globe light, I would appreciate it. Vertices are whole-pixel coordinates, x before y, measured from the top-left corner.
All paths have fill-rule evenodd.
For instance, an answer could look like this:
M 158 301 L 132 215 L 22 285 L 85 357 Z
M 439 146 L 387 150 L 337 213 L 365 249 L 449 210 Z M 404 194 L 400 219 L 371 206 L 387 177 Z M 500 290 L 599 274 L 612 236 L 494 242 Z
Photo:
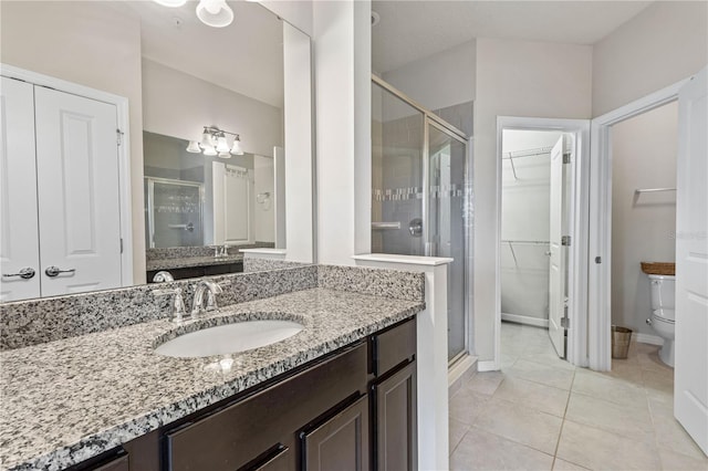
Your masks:
M 143 56 L 275 107 L 283 106 L 282 22 L 258 3 L 228 2 L 233 23 L 211 28 L 154 1 L 119 2 L 140 18 Z

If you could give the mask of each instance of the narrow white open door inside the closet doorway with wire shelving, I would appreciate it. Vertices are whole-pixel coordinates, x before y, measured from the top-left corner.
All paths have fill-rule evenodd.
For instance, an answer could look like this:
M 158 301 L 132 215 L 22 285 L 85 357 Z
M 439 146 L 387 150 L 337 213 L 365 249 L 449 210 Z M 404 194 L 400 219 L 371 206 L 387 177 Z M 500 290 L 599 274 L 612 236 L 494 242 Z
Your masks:
M 551 218 L 549 262 L 549 337 L 560 357 L 565 357 L 565 248 L 563 224 L 563 136 L 551 150 Z

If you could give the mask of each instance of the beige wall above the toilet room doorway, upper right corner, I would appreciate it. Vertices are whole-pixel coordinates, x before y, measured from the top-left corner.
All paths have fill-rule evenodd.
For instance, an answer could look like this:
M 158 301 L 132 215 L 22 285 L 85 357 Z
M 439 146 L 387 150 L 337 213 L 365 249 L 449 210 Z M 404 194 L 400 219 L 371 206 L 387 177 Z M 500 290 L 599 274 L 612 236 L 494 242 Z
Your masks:
M 708 64 L 708 2 L 657 1 L 595 44 L 593 116 Z

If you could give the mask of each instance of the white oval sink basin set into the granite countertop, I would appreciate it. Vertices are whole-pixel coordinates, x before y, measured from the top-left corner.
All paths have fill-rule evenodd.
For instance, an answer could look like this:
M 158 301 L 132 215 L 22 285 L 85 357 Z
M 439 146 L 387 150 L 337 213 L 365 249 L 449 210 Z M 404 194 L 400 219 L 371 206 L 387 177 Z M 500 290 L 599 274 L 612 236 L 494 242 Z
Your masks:
M 293 321 L 247 321 L 180 335 L 155 348 L 160 355 L 197 358 L 263 347 L 292 337 L 304 326 Z

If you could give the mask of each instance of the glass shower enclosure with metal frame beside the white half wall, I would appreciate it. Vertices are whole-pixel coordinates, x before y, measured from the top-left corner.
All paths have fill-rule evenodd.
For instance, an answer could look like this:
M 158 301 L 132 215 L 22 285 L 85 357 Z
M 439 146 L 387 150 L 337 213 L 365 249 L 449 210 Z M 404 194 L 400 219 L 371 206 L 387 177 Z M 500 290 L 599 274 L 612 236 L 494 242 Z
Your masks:
M 468 138 L 378 77 L 372 84 L 372 252 L 448 257 L 448 362 L 469 352 Z

